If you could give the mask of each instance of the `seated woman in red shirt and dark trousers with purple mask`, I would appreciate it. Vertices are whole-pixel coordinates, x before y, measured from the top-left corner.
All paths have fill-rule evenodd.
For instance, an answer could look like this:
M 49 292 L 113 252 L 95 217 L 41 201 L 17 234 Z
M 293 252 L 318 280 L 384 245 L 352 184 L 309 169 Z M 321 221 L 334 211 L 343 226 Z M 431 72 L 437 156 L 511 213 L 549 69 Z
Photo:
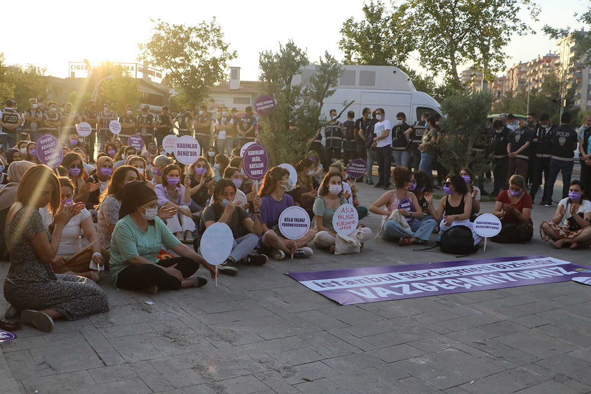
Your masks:
M 521 175 L 511 175 L 509 189 L 496 197 L 492 214 L 501 219 L 501 232 L 492 237 L 498 243 L 526 243 L 534 236 L 531 221 L 531 196 L 525 191 L 525 179 Z

